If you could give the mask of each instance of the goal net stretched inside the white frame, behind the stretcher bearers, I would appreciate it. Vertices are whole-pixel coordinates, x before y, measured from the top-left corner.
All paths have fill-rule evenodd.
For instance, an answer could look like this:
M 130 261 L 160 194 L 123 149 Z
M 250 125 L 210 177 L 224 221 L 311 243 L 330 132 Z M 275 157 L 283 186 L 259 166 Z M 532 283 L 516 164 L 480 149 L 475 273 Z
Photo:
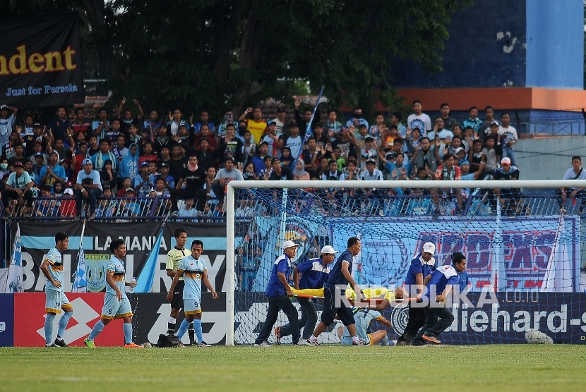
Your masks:
M 294 265 L 342 252 L 361 240 L 352 271 L 361 288 L 402 286 L 424 243 L 438 265 L 467 257 L 467 284 L 451 304 L 448 344 L 585 343 L 586 290 L 581 193 L 586 181 L 232 181 L 227 186 L 227 344 L 251 344 L 265 321 L 264 296 L 282 243 L 300 245 Z M 561 189 L 566 187 L 566 197 Z M 563 209 L 562 209 L 563 207 Z M 231 251 L 233 250 L 233 252 Z M 292 276 L 289 276 L 292 285 Z M 582 305 L 580 305 L 582 298 Z M 319 314 L 322 307 L 316 299 Z M 299 310 L 297 301 L 294 305 Z M 301 313 L 300 313 L 301 316 Z M 383 311 L 396 340 L 407 323 L 406 301 Z M 287 323 L 280 314 L 275 326 Z M 337 327 L 322 343 L 339 343 Z M 231 326 L 233 326 L 231 328 Z M 385 328 L 373 322 L 373 330 Z M 537 334 L 537 335 L 536 335 Z M 282 342 L 290 342 L 290 336 Z M 275 343 L 274 333 L 269 343 Z

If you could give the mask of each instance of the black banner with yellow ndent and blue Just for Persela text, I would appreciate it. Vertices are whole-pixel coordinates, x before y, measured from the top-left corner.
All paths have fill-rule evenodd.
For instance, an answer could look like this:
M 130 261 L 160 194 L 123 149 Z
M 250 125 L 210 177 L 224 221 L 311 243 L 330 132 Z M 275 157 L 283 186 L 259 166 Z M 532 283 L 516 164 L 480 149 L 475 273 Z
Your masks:
M 0 104 L 15 107 L 84 101 L 77 12 L 0 22 Z

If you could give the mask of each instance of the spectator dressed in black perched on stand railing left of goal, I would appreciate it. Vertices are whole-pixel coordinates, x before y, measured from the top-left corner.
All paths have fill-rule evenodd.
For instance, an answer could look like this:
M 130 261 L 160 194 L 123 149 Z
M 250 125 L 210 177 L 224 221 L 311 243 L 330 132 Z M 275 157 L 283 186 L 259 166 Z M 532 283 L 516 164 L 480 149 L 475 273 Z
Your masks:
M 233 167 L 232 161 L 232 167 Z M 237 171 L 237 170 L 234 170 Z M 240 173 L 240 172 L 239 172 Z M 240 174 L 242 176 L 242 174 Z M 205 200 L 206 195 L 208 192 L 203 189 L 203 185 L 206 183 L 206 179 L 208 178 L 207 173 L 205 173 L 205 169 L 203 167 L 198 166 L 198 157 L 196 154 L 191 154 L 189 157 L 189 161 L 187 167 L 183 169 L 181 172 L 181 176 L 177 185 L 175 185 L 175 189 L 170 189 L 169 194 L 171 196 L 171 214 L 172 216 L 177 216 L 179 212 L 179 208 L 177 207 L 177 200 L 179 198 L 182 199 L 191 199 L 195 198 L 198 200 L 196 204 L 196 209 L 198 212 L 203 212 L 205 207 Z M 241 178 L 240 178 L 241 179 Z M 219 192 L 221 195 L 224 194 L 224 180 L 222 182 L 222 188 Z M 185 183 L 185 188 L 181 189 L 181 185 Z

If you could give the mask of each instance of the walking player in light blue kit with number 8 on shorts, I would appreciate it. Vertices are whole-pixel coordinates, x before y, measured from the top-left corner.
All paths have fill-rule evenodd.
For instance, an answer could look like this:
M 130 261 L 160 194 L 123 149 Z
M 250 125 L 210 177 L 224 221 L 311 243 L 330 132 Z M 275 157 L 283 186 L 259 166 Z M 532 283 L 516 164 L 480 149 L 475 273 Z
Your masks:
M 110 251 L 114 254 L 106 267 L 106 295 L 104 295 L 104 307 L 102 318 L 95 323 L 90 336 L 83 341 L 90 348 L 95 348 L 94 339 L 102 332 L 104 326 L 113 319 L 124 319 L 122 330 L 124 331 L 124 348 L 143 348 L 132 342 L 132 308 L 130 301 L 124 292 L 124 288 L 136 287 L 136 282 L 124 281 L 126 271 L 122 259 L 126 256 L 124 240 L 113 240 L 110 243 Z

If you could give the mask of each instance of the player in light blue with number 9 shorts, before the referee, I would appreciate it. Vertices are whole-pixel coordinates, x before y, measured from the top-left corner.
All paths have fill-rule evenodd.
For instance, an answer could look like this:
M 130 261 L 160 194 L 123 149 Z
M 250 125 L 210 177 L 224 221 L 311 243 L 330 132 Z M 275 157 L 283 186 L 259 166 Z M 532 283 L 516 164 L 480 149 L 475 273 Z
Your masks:
M 179 267 L 177 267 L 177 273 L 169 288 L 167 294 L 167 301 L 173 300 L 173 291 L 179 278 L 184 276 L 185 286 L 183 288 L 183 310 L 185 313 L 185 319 L 181 321 L 179 331 L 177 331 L 177 338 L 181 341 L 181 338 L 185 335 L 189 324 L 193 322 L 193 329 L 196 331 L 198 342 L 200 347 L 210 347 L 208 343 L 203 341 L 203 331 L 201 330 L 201 282 L 205 284 L 205 287 L 212 292 L 212 298 L 217 299 L 217 293 L 208 279 L 208 267 L 205 265 L 205 260 L 201 259 L 203 253 L 203 242 L 201 240 L 193 240 L 191 243 L 191 256 L 187 256 L 181 259 Z

